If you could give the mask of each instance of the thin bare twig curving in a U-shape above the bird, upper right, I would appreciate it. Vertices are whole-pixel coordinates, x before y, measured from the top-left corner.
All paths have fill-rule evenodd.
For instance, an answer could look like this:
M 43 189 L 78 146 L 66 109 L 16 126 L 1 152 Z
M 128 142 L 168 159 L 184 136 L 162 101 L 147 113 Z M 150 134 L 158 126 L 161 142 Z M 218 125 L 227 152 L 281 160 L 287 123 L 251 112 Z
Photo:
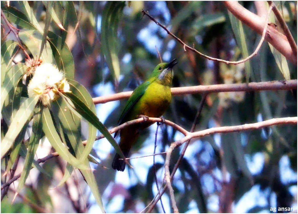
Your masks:
M 267 13 L 267 16 L 266 16 L 265 23 L 268 23 L 269 14 L 270 14 L 270 11 L 272 10 L 272 7 L 273 6 L 270 5 L 269 10 L 268 10 L 268 13 Z M 207 58 L 209 60 L 223 62 L 223 63 L 226 63 L 226 64 L 234 64 L 234 65 L 239 64 L 239 63 L 244 63 L 244 62 L 248 61 L 250 58 L 252 58 L 255 55 L 257 55 L 257 52 L 259 51 L 259 49 L 260 49 L 263 41 L 265 40 L 265 35 L 266 35 L 267 27 L 268 27 L 268 24 L 266 24 L 265 27 L 264 27 L 264 30 L 263 30 L 262 38 L 261 38 L 261 40 L 260 40 L 257 48 L 255 49 L 255 51 L 251 55 L 249 55 L 247 58 L 245 58 L 243 60 L 240 60 L 240 61 L 226 61 L 226 60 L 222 60 L 222 59 L 217 59 L 217 58 L 209 57 L 209 56 L 207 56 L 205 54 L 202 54 L 201 52 L 197 51 L 196 49 L 188 46 L 187 44 L 185 44 L 184 42 L 182 42 L 181 39 L 179 39 L 173 33 L 171 33 L 164 25 L 162 25 L 158 21 L 156 21 L 156 19 L 154 19 L 151 15 L 149 15 L 148 12 L 146 12 L 145 10 L 142 10 L 141 12 L 144 15 L 147 15 L 152 21 L 154 21 L 157 25 L 159 25 L 160 27 L 162 27 L 165 31 L 167 31 L 167 33 L 169 35 L 171 35 L 174 39 L 176 39 L 179 43 L 181 43 L 183 45 L 184 52 L 186 52 L 186 49 L 185 48 L 187 48 L 187 49 L 189 49 L 189 50 L 191 50 L 191 51 L 193 51 L 193 52 L 195 52 L 195 53 L 197 53 L 197 54 L 199 54 L 199 55 L 201 55 L 201 56 L 203 56 L 203 57 L 205 57 L 205 58 Z

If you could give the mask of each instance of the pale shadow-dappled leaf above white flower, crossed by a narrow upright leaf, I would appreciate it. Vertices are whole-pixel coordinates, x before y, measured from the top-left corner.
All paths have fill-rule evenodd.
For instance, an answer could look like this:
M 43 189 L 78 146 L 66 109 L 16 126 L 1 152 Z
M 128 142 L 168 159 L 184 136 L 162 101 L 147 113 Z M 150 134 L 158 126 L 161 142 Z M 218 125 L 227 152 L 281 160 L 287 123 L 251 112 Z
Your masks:
M 28 47 L 33 58 L 37 58 L 40 54 L 41 45 L 43 41 L 43 34 L 37 30 L 20 30 L 18 33 L 20 39 Z M 54 63 L 55 60 L 52 55 L 52 49 L 47 43 L 45 50 L 41 54 L 41 59 L 45 63 Z

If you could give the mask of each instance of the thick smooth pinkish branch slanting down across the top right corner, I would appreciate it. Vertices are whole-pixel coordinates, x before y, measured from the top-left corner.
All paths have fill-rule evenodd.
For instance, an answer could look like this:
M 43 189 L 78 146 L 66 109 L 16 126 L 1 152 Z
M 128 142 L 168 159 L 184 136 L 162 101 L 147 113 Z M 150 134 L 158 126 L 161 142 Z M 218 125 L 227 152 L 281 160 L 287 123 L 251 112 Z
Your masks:
M 262 35 L 264 26 L 267 24 L 264 18 L 245 9 L 237 1 L 224 1 L 226 8 L 249 28 Z M 280 33 L 273 25 L 268 25 L 265 40 L 276 48 L 293 64 L 297 65 L 297 51 L 292 51 L 291 45 L 286 36 Z

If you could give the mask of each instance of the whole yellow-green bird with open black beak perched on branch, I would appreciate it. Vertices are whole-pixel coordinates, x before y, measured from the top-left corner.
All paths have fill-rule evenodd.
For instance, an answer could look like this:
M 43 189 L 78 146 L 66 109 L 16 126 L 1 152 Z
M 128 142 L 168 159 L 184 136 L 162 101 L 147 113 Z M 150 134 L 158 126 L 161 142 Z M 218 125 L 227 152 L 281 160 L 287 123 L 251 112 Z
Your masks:
M 118 124 L 121 125 L 134 120 L 140 115 L 148 117 L 161 117 L 171 102 L 171 84 L 173 80 L 173 67 L 177 64 L 174 59 L 170 63 L 160 63 L 153 70 L 150 78 L 139 85 L 129 97 Z M 131 146 L 139 137 L 139 132 L 152 125 L 152 122 L 142 122 L 130 125 L 120 131 L 120 149 L 127 158 Z M 114 137 L 116 137 L 117 132 Z M 120 160 L 117 153 L 114 157 L 112 168 L 124 171 L 125 161 Z

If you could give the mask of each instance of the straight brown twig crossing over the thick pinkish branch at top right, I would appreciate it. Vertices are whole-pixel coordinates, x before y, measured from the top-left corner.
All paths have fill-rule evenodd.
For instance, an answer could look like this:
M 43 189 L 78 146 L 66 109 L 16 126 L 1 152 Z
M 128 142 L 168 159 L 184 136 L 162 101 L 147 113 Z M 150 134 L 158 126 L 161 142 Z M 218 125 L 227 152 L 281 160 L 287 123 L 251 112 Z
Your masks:
M 283 29 L 283 32 L 285 33 L 285 36 L 288 39 L 288 42 L 291 46 L 291 49 L 295 55 L 295 57 L 297 57 L 297 44 L 287 26 L 287 24 L 285 23 L 285 20 L 283 19 L 283 15 L 280 13 L 280 11 L 277 9 L 276 5 L 274 4 L 273 1 L 267 1 L 269 5 L 272 5 L 272 11 L 275 14 L 278 22 L 280 23 L 280 27 Z M 290 12 L 289 12 L 290 13 Z

